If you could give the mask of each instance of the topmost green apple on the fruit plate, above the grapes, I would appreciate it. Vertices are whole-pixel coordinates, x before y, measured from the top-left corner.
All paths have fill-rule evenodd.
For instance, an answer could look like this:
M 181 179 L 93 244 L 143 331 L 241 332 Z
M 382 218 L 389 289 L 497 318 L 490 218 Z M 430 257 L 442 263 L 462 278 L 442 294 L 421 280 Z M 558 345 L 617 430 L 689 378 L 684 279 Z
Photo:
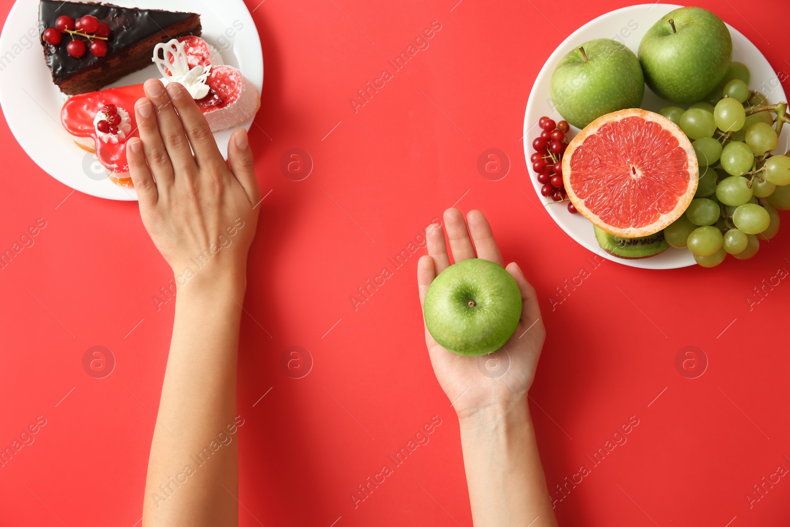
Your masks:
M 702 100 L 727 73 L 732 37 L 719 17 L 702 7 L 670 11 L 639 43 L 645 82 L 673 103 Z

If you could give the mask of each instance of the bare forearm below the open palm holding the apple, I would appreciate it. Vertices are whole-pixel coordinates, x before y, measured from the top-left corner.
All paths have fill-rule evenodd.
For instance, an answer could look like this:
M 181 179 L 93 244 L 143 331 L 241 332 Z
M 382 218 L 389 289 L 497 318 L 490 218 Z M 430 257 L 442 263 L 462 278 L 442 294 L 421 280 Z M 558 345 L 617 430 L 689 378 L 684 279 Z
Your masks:
M 460 420 L 475 527 L 557 525 L 526 401 Z

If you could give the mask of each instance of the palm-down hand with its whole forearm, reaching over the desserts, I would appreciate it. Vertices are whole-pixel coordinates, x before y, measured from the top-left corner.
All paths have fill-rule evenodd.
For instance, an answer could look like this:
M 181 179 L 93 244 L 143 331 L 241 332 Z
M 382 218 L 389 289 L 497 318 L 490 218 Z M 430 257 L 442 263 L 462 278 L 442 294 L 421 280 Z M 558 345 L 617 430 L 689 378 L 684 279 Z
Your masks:
M 151 80 L 145 94 L 134 107 L 140 139 L 127 142 L 126 156 L 143 224 L 173 268 L 179 292 L 143 525 L 238 525 L 239 325 L 261 192 L 245 130 L 231 136 L 228 168 L 182 85 L 165 91 Z M 212 447 L 211 461 L 185 473 L 194 453 L 218 438 L 222 449 Z M 187 476 L 190 483 L 176 484 L 178 492 L 163 490 Z

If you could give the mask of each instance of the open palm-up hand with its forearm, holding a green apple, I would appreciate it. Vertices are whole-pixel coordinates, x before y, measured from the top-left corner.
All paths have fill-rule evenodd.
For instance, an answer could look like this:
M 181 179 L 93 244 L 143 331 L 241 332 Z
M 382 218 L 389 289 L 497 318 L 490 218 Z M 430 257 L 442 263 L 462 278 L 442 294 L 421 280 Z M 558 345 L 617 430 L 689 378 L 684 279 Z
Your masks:
M 502 254 L 483 213 L 472 210 L 464 221 L 457 209 L 448 209 L 444 220 L 455 262 L 485 258 L 502 265 Z M 425 302 L 436 275 L 450 265 L 442 228 L 429 227 L 427 241 L 428 254 L 417 265 L 420 303 Z M 546 330 L 535 289 L 515 263 L 505 269 L 521 289 L 522 305 L 518 327 L 502 349 L 487 356 L 460 356 L 437 344 L 427 327 L 425 342 L 436 378 L 458 414 L 472 523 L 475 527 L 556 527 L 525 401 Z

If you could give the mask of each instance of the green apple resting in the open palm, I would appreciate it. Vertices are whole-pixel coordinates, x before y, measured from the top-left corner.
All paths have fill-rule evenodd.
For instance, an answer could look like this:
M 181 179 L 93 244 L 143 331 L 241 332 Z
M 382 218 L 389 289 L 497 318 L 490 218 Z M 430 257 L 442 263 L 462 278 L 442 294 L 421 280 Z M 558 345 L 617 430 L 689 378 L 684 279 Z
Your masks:
M 516 330 L 521 290 L 502 265 L 470 258 L 434 278 L 423 314 L 442 347 L 458 355 L 487 355 L 502 348 Z

